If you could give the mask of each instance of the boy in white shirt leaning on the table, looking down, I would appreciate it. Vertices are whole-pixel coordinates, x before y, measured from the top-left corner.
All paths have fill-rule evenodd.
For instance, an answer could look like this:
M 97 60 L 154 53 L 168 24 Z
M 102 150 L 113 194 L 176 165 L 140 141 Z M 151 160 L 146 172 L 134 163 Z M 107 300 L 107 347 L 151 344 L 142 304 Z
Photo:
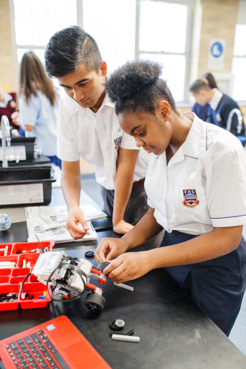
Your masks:
M 114 231 L 125 234 L 148 210 L 143 186 L 148 154 L 119 126 L 104 91 L 107 65 L 98 45 L 81 27 L 65 28 L 48 42 L 45 70 L 68 95 L 59 106 L 57 122 L 57 156 L 62 160 L 62 191 L 68 207 L 66 228 L 74 239 L 88 230 L 79 208 L 82 157 L 96 167 L 104 211 L 112 217 Z

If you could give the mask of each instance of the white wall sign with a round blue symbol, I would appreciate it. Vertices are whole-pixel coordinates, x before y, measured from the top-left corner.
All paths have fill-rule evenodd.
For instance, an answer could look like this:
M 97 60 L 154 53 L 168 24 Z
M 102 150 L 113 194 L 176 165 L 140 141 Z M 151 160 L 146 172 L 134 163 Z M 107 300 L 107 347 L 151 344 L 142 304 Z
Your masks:
M 208 69 L 221 70 L 225 60 L 225 39 L 211 38 L 208 49 Z

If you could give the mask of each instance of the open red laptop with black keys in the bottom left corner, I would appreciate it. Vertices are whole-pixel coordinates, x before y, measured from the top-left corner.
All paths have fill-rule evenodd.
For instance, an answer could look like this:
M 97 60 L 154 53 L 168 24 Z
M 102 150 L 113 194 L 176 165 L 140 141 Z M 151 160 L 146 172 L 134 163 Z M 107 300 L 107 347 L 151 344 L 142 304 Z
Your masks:
M 1 369 L 111 369 L 62 315 L 0 341 Z

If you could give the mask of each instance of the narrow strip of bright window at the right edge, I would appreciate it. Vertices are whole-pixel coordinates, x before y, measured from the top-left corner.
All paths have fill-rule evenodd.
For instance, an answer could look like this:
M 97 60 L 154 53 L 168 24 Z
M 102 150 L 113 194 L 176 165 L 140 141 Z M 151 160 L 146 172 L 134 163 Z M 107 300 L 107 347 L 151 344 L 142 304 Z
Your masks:
M 236 101 L 246 100 L 246 24 L 237 24 L 232 58 L 232 97 Z

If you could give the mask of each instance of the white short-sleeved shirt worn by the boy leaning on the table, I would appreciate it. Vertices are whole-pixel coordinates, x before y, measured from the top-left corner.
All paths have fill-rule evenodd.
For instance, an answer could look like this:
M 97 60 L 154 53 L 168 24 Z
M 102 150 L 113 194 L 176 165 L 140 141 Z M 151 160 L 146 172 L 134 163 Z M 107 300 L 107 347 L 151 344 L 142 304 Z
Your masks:
M 107 96 L 97 113 L 65 96 L 59 106 L 57 137 L 58 158 L 72 162 L 81 156 L 96 167 L 96 181 L 108 190 L 115 189 L 119 147 L 139 150 L 134 138 L 120 128 L 115 107 Z M 149 155 L 140 149 L 133 182 L 146 176 L 148 162 Z

